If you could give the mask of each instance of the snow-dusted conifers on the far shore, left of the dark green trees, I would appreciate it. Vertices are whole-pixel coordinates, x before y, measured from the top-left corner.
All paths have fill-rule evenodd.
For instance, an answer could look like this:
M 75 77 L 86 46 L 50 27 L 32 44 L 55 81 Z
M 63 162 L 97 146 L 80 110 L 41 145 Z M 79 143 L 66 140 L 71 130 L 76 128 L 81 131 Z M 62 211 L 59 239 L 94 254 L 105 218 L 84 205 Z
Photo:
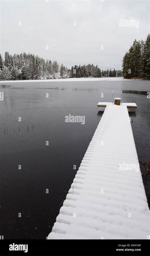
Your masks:
M 0 80 L 33 80 L 70 77 L 121 77 L 122 70 L 103 70 L 93 64 L 75 65 L 71 69 L 31 53 L 0 54 Z

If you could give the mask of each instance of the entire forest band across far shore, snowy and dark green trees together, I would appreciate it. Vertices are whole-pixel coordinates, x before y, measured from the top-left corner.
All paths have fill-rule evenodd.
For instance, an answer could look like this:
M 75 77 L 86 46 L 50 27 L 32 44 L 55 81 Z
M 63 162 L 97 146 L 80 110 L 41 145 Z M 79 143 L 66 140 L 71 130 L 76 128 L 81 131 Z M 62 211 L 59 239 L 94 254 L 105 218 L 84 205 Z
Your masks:
M 71 69 L 57 61 L 44 60 L 31 53 L 0 54 L 0 80 L 33 80 L 70 77 L 124 77 L 150 79 L 150 35 L 136 41 L 123 57 L 122 70 L 103 70 L 93 64 L 75 65 Z

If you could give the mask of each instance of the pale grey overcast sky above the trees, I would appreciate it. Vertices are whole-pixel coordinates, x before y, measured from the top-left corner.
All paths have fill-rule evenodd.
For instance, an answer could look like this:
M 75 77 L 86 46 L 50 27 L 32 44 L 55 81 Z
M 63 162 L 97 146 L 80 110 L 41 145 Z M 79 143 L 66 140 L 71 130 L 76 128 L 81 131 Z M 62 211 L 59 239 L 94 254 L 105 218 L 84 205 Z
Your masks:
M 149 1 L 1 0 L 0 52 L 34 53 L 72 65 L 121 69 L 134 39 L 146 39 Z M 139 28 L 120 20 L 139 21 Z

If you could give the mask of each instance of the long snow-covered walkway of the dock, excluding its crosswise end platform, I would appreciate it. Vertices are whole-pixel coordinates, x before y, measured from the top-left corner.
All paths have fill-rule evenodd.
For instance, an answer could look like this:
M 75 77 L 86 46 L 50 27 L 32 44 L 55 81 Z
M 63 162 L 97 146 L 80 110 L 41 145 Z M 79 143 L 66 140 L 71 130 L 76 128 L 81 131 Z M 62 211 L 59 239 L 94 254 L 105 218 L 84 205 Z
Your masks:
M 149 220 L 127 103 L 106 104 L 48 239 L 148 239 Z

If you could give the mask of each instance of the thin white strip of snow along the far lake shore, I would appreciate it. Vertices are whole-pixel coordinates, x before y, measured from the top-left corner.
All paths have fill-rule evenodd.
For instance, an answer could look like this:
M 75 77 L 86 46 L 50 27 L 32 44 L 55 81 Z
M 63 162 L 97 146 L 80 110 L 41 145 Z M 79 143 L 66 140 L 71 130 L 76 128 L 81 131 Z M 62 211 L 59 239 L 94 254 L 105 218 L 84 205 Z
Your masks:
M 141 79 L 125 79 L 123 77 L 81 77 L 81 78 L 64 78 L 64 79 L 37 79 L 37 80 L 9 80 L 0 81 L 0 83 L 16 83 L 16 82 L 82 82 L 82 81 L 139 81 Z

